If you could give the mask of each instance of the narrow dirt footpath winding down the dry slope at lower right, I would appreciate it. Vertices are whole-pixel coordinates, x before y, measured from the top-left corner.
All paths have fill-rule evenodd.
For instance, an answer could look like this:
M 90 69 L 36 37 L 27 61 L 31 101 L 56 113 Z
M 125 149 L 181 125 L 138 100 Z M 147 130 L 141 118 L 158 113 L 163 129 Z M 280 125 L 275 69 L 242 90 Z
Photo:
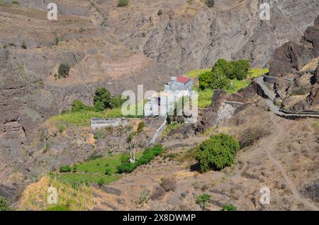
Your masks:
M 284 139 L 284 136 L 286 135 L 286 129 L 282 125 L 282 121 L 279 120 L 279 117 L 272 114 L 271 116 L 272 122 L 277 128 L 277 133 L 274 135 L 274 138 L 271 140 L 271 142 L 267 142 L 267 145 L 264 147 L 264 150 L 267 152 L 267 156 L 272 160 L 272 163 L 276 168 L 280 171 L 280 173 L 283 175 L 284 180 L 286 181 L 286 184 L 291 189 L 291 192 L 293 194 L 293 197 L 296 201 L 302 202 L 306 207 L 312 210 L 318 211 L 318 207 L 315 206 L 315 204 L 309 202 L 308 200 L 305 200 L 303 197 L 301 197 L 300 193 L 298 192 L 295 183 L 289 178 L 289 175 L 287 175 L 284 167 L 281 165 L 281 163 L 274 158 L 272 155 L 272 149 L 276 150 L 277 144 L 280 142 L 281 139 Z

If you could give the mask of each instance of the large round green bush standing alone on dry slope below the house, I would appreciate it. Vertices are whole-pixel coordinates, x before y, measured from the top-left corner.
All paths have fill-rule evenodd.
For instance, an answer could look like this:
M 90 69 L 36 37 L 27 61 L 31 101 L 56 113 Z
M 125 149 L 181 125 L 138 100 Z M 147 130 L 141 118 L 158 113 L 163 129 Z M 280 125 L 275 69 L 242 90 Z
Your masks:
M 201 143 L 196 160 L 202 172 L 220 170 L 234 163 L 238 149 L 240 146 L 236 139 L 226 134 L 218 134 Z

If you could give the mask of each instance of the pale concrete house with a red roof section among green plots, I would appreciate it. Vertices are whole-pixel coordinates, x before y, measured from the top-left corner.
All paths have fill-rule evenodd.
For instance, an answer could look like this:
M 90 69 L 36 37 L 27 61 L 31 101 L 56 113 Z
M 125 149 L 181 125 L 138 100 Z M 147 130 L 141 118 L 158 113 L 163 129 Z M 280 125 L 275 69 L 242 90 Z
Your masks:
M 187 76 L 171 77 L 165 84 L 164 91 L 147 99 L 145 104 L 145 116 L 166 117 L 169 110 L 174 110 L 174 105 L 183 96 L 190 96 L 193 91 L 193 79 Z

